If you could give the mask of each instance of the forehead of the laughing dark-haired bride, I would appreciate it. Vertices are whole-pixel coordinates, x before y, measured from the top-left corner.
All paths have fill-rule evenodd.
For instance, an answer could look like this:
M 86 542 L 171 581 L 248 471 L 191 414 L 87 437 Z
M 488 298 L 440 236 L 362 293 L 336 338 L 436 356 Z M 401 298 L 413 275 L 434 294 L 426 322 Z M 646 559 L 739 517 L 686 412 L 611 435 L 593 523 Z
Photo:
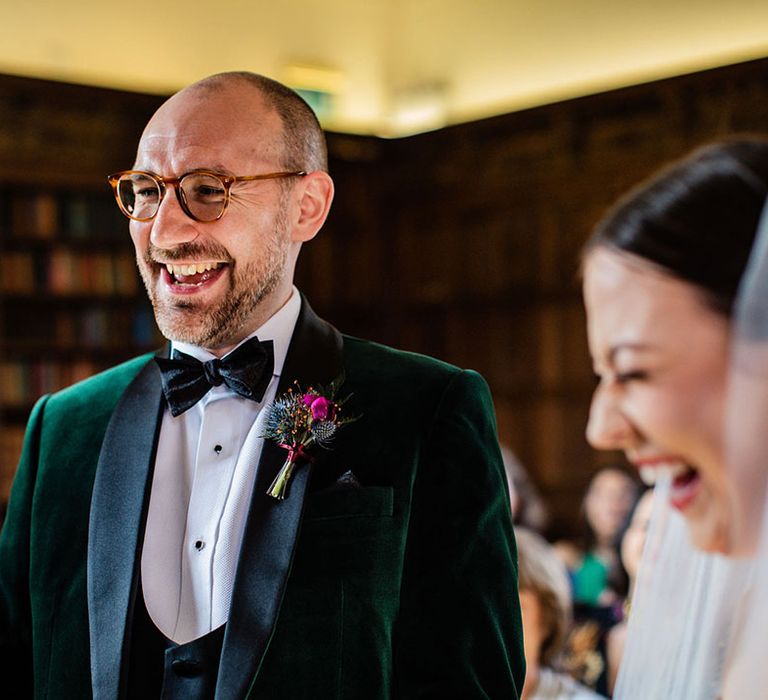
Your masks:
M 584 303 L 595 358 L 625 344 L 682 349 L 690 333 L 727 325 L 692 284 L 608 249 L 596 249 L 586 260 Z

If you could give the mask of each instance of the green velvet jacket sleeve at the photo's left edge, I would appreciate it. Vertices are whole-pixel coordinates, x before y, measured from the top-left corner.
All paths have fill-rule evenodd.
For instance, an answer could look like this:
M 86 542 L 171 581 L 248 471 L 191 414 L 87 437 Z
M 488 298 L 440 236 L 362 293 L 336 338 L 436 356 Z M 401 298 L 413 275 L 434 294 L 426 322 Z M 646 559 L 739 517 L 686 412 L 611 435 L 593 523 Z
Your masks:
M 32 695 L 32 614 L 30 605 L 30 523 L 37 475 L 42 416 L 48 397 L 32 410 L 21 461 L 0 532 L 0 677 Z

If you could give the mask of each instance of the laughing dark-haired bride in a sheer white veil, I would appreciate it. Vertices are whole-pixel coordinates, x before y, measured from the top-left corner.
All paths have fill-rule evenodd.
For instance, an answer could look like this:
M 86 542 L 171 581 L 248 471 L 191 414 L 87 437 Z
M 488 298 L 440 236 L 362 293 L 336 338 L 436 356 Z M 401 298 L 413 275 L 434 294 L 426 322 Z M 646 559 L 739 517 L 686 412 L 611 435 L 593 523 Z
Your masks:
M 768 141 L 695 151 L 584 252 L 587 438 L 656 485 L 616 698 L 768 697 Z

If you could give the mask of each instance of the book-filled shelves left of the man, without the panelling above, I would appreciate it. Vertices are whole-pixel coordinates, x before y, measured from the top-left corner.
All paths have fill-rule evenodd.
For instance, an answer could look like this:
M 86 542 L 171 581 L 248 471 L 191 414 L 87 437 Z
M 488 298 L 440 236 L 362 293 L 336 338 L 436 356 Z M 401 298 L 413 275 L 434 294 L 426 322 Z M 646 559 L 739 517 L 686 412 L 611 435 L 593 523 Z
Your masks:
M 111 199 L 106 188 L 0 188 L 3 499 L 37 398 L 160 342 Z

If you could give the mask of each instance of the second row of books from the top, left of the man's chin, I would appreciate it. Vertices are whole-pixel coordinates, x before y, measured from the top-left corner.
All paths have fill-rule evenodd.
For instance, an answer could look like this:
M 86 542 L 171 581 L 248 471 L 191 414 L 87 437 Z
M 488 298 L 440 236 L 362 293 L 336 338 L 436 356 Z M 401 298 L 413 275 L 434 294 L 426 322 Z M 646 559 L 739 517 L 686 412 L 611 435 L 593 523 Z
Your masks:
M 134 296 L 138 292 L 136 261 L 130 251 L 6 251 L 0 293 Z

